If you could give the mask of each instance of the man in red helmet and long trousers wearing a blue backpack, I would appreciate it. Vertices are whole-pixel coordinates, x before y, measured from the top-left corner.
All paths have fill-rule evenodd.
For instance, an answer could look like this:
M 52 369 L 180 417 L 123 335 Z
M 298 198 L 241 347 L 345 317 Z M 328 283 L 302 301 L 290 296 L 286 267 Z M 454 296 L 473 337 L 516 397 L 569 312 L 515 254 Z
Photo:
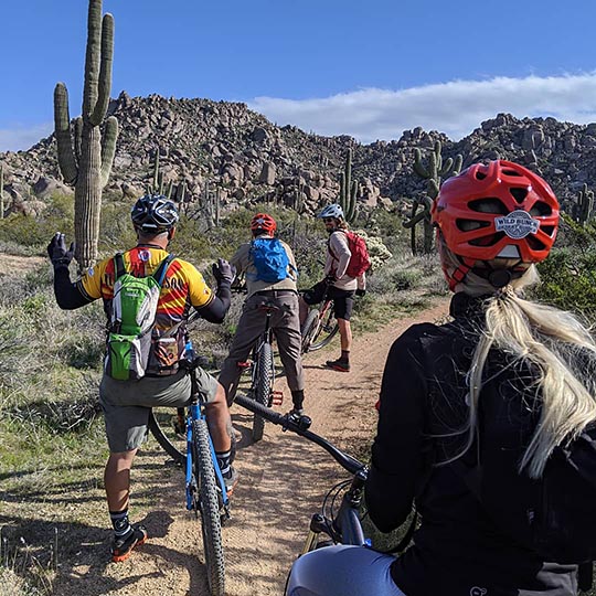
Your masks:
M 253 238 L 274 241 L 277 230 L 276 221 L 266 213 L 257 213 L 251 222 Z M 296 288 L 296 262 L 291 248 L 281 241 L 280 251 L 284 251 L 287 259 L 283 259 L 281 272 L 276 276 L 267 277 L 259 274 L 258 262 L 255 263 L 254 242 L 242 244 L 231 259 L 232 266 L 236 267 L 238 275 L 245 274 L 247 297 L 244 302 L 242 317 L 238 321 L 236 336 L 230 348 L 230 354 L 225 359 L 220 373 L 220 383 L 227 394 L 227 403 L 232 404 L 242 369 L 238 362 L 244 362 L 259 334 L 265 329 L 265 313 L 259 307 L 266 302 L 273 302 L 278 310 L 272 313 L 272 329 L 279 349 L 279 358 L 284 365 L 288 387 L 291 391 L 294 408 L 291 413 L 302 415 L 305 401 L 305 380 L 302 374 L 301 336 L 298 315 L 298 290 Z M 281 255 L 283 256 L 283 255 Z M 264 258 L 269 258 L 267 254 Z M 270 259 L 274 260 L 272 253 Z

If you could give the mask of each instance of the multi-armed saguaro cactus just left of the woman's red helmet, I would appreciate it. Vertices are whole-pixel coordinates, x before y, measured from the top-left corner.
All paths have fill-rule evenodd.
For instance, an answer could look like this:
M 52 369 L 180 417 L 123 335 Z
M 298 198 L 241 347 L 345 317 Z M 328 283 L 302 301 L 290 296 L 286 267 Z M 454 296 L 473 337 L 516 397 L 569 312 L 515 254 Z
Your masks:
M 424 243 L 423 251 L 430 253 L 433 251 L 433 226 L 430 224 L 430 207 L 433 201 L 437 198 L 440 189 L 441 179 L 449 175 L 457 175 L 461 171 L 464 159 L 461 156 L 456 156 L 455 160 L 448 158 L 443 163 L 440 155 L 441 143 L 435 141 L 434 150 L 428 156 L 428 166 L 425 167 L 422 160 L 422 152 L 418 148 L 414 149 L 414 171 L 423 179 L 427 180 L 426 196 L 414 199 L 412 204 L 412 214 L 409 220 L 406 220 L 403 225 L 411 230 L 412 254 L 416 254 L 416 225 L 423 222 Z M 422 207 L 422 211 L 418 211 Z

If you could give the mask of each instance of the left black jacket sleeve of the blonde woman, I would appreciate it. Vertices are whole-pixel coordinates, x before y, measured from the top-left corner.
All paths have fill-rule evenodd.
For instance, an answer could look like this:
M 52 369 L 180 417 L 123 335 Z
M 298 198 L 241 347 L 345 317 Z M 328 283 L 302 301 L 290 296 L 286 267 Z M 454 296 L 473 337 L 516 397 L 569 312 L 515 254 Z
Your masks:
M 381 384 L 379 426 L 366 481 L 373 523 L 391 532 L 407 518 L 425 478 L 424 419 L 426 379 L 416 326 L 392 345 Z

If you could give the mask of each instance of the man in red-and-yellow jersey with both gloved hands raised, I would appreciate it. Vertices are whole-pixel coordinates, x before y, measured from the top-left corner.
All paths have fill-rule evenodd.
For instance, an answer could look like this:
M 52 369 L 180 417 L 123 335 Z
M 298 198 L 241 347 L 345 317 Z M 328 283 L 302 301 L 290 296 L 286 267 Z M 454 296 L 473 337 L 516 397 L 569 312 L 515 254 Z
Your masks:
M 145 195 L 131 211 L 137 245 L 123 255 L 126 273 L 135 277 L 153 274 L 166 257 L 167 247 L 175 234 L 179 215 L 174 203 L 162 195 Z M 64 234 L 57 233 L 47 246 L 54 266 L 54 294 L 63 309 L 75 309 L 102 298 L 108 317 L 111 312 L 115 284 L 115 258 L 102 260 L 81 279 L 72 283 L 68 264 L 74 245 L 66 249 Z M 99 386 L 99 403 L 104 411 L 110 455 L 104 481 L 114 526 L 111 558 L 128 558 L 132 549 L 147 540 L 147 530 L 131 525 L 128 519 L 130 468 L 145 437 L 149 413 L 153 406 L 183 406 L 191 395 L 190 376 L 179 368 L 184 358 L 185 322 L 191 308 L 207 321 L 221 323 L 230 308 L 230 285 L 234 272 L 220 259 L 213 265 L 217 290 L 213 292 L 203 276 L 190 263 L 172 258 L 167 267 L 159 294 L 156 323 L 145 376 L 139 380 L 117 380 L 106 370 Z M 160 349 L 167 339 L 168 350 Z M 173 340 L 173 341 L 172 341 Z M 162 348 L 163 345 L 161 345 Z M 231 465 L 231 421 L 225 392 L 217 381 L 196 369 L 198 383 L 206 405 L 206 417 L 217 460 L 231 491 L 236 473 Z

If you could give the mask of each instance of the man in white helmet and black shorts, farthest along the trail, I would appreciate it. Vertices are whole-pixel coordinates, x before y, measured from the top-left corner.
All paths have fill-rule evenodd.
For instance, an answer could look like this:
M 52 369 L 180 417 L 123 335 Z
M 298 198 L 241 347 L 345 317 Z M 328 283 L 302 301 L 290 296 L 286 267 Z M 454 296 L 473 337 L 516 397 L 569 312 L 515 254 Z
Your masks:
M 307 305 L 321 302 L 328 286 L 330 286 L 328 296 L 333 299 L 333 309 L 340 332 L 341 355 L 337 360 L 328 360 L 327 365 L 334 371 L 350 372 L 350 349 L 352 347 L 350 317 L 354 306 L 354 294 L 356 296 L 366 294 L 366 278 L 365 274 L 360 277 L 350 277 L 345 273 L 352 253 L 344 233 L 348 224 L 341 205 L 328 205 L 317 217 L 323 221 L 324 228 L 329 233 L 324 263 L 326 278 L 304 292 L 300 319 L 301 322 L 305 321 L 308 313 Z

